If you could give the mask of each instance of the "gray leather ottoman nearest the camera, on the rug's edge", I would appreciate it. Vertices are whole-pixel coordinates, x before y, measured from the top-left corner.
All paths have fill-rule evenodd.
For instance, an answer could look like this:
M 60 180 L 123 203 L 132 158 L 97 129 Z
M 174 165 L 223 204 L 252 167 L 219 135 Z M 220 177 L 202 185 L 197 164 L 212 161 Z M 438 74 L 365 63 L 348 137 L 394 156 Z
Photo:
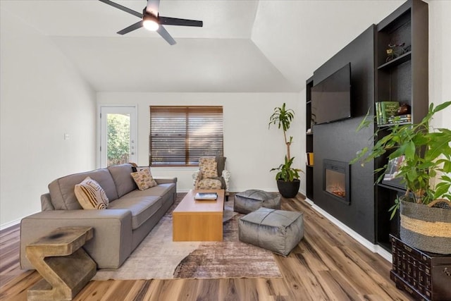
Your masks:
M 261 207 L 238 222 L 240 241 L 287 256 L 304 237 L 302 213 Z

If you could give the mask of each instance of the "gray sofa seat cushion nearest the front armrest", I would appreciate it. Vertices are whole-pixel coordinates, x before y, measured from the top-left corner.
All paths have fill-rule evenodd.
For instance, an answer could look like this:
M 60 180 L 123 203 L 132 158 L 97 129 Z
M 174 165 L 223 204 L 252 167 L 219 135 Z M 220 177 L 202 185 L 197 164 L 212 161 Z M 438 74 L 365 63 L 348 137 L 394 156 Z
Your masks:
M 139 228 L 161 207 L 161 197 L 121 197 L 112 202 L 109 209 L 128 209 L 132 212 L 132 229 Z

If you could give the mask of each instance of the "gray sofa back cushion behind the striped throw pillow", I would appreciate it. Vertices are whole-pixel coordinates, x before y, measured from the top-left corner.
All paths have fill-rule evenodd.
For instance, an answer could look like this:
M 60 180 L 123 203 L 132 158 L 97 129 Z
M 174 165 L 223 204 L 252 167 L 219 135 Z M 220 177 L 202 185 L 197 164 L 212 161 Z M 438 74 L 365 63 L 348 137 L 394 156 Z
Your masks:
M 101 188 L 104 188 L 109 201 L 118 198 L 116 185 L 114 185 L 111 173 L 106 168 L 87 171 L 85 173 L 74 173 L 73 175 L 58 178 L 49 184 L 51 203 L 55 210 L 82 209 L 77 197 L 75 197 L 75 185 L 85 180 L 86 177 L 95 180 Z

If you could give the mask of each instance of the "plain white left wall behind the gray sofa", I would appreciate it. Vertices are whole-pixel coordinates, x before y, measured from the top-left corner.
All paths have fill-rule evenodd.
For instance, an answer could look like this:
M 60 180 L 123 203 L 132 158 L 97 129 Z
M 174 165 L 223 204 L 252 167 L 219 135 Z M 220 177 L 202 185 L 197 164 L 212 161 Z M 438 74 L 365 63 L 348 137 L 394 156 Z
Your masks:
M 1 10 L 0 227 L 41 210 L 47 185 L 95 167 L 95 93 L 51 40 Z M 69 140 L 64 140 L 64 134 Z

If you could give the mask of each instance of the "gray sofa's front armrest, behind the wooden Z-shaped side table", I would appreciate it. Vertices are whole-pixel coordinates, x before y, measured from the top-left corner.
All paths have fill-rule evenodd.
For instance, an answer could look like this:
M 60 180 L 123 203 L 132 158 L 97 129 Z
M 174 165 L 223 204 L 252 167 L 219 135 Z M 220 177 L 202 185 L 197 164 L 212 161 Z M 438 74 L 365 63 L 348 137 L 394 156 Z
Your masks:
M 20 221 L 20 268 L 35 269 L 25 247 L 60 227 L 91 226 L 94 237 L 83 248 L 99 268 L 118 268 L 132 252 L 132 214 L 127 209 L 53 210 Z

